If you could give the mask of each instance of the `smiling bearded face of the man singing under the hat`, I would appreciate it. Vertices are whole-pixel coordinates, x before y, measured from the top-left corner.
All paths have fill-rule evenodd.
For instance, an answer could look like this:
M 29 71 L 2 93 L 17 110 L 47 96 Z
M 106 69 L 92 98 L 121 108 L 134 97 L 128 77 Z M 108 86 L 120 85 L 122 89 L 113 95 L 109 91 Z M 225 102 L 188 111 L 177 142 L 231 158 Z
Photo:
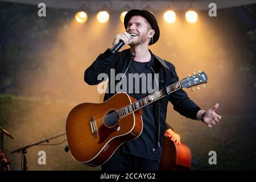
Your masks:
M 148 22 L 142 16 L 133 16 L 127 23 L 126 32 L 131 34 L 129 46 L 138 46 L 146 42 L 148 38 Z

